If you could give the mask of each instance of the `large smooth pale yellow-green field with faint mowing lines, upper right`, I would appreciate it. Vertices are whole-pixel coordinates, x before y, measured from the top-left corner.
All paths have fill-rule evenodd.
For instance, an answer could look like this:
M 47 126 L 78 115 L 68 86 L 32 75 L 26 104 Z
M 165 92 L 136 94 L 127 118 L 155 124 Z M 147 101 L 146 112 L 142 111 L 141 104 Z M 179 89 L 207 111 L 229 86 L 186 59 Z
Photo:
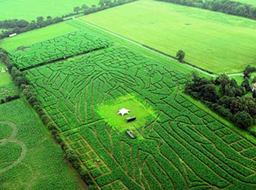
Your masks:
M 186 61 L 215 73 L 256 60 L 256 21 L 238 16 L 142 0 L 80 19 L 172 56 L 183 49 Z

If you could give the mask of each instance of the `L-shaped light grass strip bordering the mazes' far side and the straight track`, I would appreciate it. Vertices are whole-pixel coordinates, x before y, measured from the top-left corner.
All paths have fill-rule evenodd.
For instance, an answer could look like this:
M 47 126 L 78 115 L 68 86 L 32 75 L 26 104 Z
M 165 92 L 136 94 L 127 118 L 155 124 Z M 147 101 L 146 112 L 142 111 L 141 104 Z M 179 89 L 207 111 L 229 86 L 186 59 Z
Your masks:
M 189 68 L 188 66 L 183 65 L 177 61 L 170 60 L 165 56 L 153 53 L 148 49 L 144 49 L 143 47 L 137 46 L 136 44 L 132 44 L 130 42 L 125 41 L 124 39 L 120 39 L 115 35 L 108 34 L 106 32 L 99 30 L 98 28 L 91 27 L 90 25 L 80 22 L 79 20 L 68 20 L 67 22 L 62 22 L 56 25 L 51 25 L 30 32 L 25 32 L 23 34 L 16 36 L 15 38 L 6 38 L 4 39 L 4 41 L 0 42 L 0 46 L 6 49 L 7 51 L 12 51 L 15 50 L 16 47 L 30 46 L 32 44 L 41 41 L 46 41 L 48 39 L 53 39 L 54 37 L 58 37 L 59 35 L 68 34 L 69 32 L 73 32 L 76 30 L 86 30 L 95 35 L 102 35 L 103 37 L 112 40 L 116 44 L 122 44 L 122 46 L 129 47 L 131 49 L 139 51 L 140 53 L 144 54 L 144 56 L 149 56 L 151 58 L 162 61 L 162 63 L 164 63 L 165 65 L 171 64 L 180 72 L 188 73 L 194 70 L 193 68 Z

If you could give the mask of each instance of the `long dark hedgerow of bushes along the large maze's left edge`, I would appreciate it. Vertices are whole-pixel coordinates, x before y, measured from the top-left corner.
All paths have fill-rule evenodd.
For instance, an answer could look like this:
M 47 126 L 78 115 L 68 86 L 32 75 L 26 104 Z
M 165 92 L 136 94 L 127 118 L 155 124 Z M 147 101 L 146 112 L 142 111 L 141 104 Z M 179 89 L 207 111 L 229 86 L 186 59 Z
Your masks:
M 4 49 L 2 49 L 1 47 L 0 47 L 0 60 L 4 61 L 4 63 L 8 66 L 8 68 L 10 68 L 9 72 L 11 74 L 11 77 L 13 78 L 13 81 L 15 82 L 16 85 L 18 85 L 18 87 L 23 92 L 26 99 L 29 101 L 30 105 L 32 105 L 34 110 L 37 111 L 42 122 L 48 127 L 49 130 L 51 130 L 51 134 L 53 135 L 54 139 L 56 139 L 56 141 L 60 143 L 61 148 L 63 148 L 65 153 L 64 154 L 65 158 L 67 158 L 72 163 L 73 167 L 77 169 L 82 180 L 86 182 L 86 184 L 88 185 L 88 189 L 89 190 L 98 189 L 94 184 L 94 182 L 91 180 L 91 177 L 88 174 L 88 172 L 81 167 L 79 158 L 74 152 L 74 150 L 71 149 L 68 146 L 68 144 L 62 140 L 59 134 L 60 129 L 57 127 L 57 125 L 54 122 L 51 121 L 51 118 L 48 117 L 46 112 L 42 110 L 41 103 L 39 99 L 37 99 L 35 92 L 32 91 L 32 85 L 30 84 L 29 80 L 27 80 L 23 72 L 18 70 L 16 65 L 12 64 L 11 61 L 8 60 L 7 52 L 4 51 Z M 11 101 L 12 99 L 16 99 L 19 97 L 20 97 L 19 95 L 16 95 L 13 97 L 7 97 L 6 101 L 7 100 Z

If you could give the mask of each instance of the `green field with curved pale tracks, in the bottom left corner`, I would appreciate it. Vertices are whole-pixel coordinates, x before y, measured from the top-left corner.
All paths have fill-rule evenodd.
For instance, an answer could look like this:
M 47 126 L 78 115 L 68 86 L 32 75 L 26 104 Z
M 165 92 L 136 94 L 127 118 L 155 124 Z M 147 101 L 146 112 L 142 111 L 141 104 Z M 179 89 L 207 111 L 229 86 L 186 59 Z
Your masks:
M 0 105 L 0 189 L 84 189 L 23 99 Z

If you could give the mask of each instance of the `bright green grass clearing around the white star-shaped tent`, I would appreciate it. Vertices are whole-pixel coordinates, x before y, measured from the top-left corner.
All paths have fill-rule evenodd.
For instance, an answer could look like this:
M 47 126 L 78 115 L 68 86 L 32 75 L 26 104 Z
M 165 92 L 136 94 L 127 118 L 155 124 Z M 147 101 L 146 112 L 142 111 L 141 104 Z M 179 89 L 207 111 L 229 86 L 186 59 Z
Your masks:
M 117 115 L 118 110 L 126 108 L 129 111 L 129 115 Z M 101 117 L 105 118 L 106 121 L 112 126 L 118 129 L 120 132 L 124 132 L 126 129 L 139 129 L 143 127 L 146 119 L 156 117 L 153 110 L 146 108 L 143 103 L 139 102 L 136 98 L 129 96 L 129 98 L 119 98 L 117 102 L 108 103 L 98 108 L 98 113 Z M 150 116 L 151 117 L 148 117 Z M 136 117 L 133 122 L 126 122 L 128 117 Z

